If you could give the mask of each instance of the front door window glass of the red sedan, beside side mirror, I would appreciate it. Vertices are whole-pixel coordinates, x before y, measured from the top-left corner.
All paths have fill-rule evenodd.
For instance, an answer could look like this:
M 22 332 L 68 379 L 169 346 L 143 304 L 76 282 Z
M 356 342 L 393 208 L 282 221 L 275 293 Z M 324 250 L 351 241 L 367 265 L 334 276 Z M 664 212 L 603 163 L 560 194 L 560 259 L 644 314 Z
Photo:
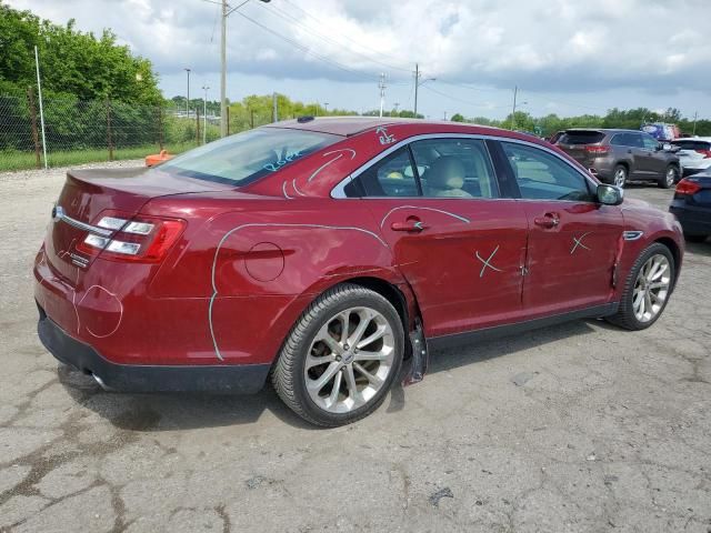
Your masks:
M 592 201 L 588 180 L 560 158 L 538 148 L 502 142 L 521 198 Z

